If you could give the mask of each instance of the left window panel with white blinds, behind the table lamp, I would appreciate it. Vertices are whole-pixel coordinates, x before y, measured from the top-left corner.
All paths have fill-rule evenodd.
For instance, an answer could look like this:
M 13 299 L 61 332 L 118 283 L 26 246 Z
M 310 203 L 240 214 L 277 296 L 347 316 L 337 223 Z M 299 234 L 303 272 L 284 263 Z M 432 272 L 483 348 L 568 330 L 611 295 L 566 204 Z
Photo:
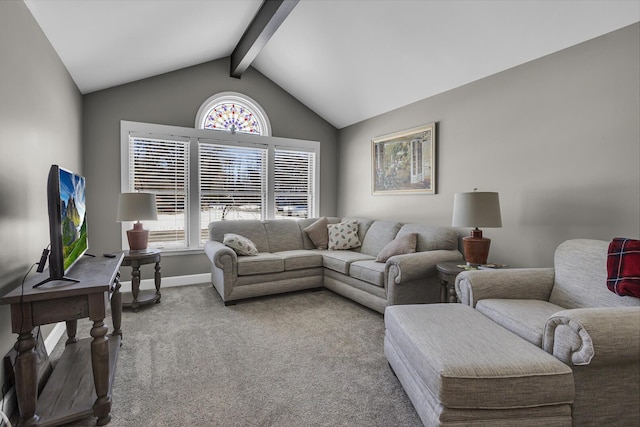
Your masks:
M 129 191 L 155 193 L 158 221 L 145 222 L 149 247 L 189 246 L 189 140 L 129 137 Z

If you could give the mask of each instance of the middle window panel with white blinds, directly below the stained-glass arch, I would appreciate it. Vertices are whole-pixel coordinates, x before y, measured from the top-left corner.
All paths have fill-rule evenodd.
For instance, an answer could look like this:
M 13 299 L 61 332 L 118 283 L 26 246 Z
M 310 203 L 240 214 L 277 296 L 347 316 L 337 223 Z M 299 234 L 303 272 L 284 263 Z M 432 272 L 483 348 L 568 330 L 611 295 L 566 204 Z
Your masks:
M 264 219 L 267 202 L 267 148 L 200 141 L 200 236 L 212 221 Z

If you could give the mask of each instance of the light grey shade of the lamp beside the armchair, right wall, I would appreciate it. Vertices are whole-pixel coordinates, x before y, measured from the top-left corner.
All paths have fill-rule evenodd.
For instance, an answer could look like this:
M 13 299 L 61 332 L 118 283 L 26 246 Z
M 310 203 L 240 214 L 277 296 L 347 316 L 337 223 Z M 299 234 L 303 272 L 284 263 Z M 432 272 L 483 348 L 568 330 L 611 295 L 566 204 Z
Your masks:
M 502 227 L 498 193 L 473 191 L 453 196 L 453 227 Z

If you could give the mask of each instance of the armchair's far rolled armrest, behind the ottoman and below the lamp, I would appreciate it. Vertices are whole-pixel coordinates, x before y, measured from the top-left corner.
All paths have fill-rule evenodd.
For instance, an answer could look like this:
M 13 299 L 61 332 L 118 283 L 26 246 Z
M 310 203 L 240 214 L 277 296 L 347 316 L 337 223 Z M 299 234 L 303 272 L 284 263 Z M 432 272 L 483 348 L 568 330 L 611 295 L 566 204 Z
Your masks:
M 458 274 L 455 286 L 460 302 L 475 307 L 490 298 L 548 301 L 553 281 L 553 268 L 470 270 Z

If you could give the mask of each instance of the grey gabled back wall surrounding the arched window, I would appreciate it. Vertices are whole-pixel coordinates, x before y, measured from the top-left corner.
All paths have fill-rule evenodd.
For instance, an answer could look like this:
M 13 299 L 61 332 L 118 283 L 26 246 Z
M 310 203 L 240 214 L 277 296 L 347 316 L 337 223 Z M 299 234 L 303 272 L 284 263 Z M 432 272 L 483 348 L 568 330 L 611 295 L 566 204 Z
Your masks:
M 320 141 L 320 213 L 335 215 L 337 130 L 253 68 L 242 79 L 229 77 L 226 58 L 83 97 L 83 165 L 92 252 L 102 254 L 121 247 L 120 224 L 116 222 L 120 120 L 194 127 L 200 105 L 224 91 L 240 92 L 256 100 L 269 116 L 273 136 Z M 152 272 L 145 269 L 143 278 L 150 278 Z M 208 273 L 210 267 L 199 252 L 164 256 L 162 272 L 164 276 L 180 276 Z

